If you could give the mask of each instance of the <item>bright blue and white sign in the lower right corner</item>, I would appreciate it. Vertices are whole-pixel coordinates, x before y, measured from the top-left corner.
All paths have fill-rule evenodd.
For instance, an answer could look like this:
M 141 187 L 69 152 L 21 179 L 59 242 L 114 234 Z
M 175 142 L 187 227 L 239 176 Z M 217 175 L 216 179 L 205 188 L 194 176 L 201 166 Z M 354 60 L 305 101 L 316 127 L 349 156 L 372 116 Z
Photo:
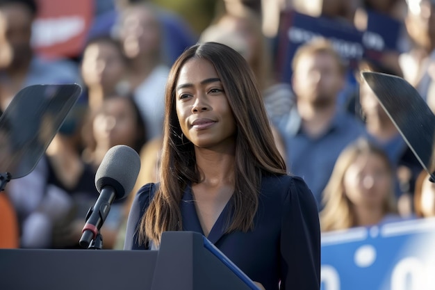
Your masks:
M 435 219 L 322 234 L 322 290 L 435 289 Z

